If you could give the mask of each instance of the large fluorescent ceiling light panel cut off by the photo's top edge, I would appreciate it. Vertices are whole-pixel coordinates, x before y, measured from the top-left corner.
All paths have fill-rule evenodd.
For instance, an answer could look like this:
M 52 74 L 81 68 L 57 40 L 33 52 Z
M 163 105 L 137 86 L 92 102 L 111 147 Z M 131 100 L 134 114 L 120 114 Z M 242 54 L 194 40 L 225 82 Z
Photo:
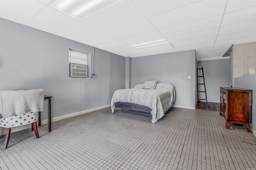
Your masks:
M 90 16 L 120 0 L 55 0 L 51 6 L 78 19 Z

